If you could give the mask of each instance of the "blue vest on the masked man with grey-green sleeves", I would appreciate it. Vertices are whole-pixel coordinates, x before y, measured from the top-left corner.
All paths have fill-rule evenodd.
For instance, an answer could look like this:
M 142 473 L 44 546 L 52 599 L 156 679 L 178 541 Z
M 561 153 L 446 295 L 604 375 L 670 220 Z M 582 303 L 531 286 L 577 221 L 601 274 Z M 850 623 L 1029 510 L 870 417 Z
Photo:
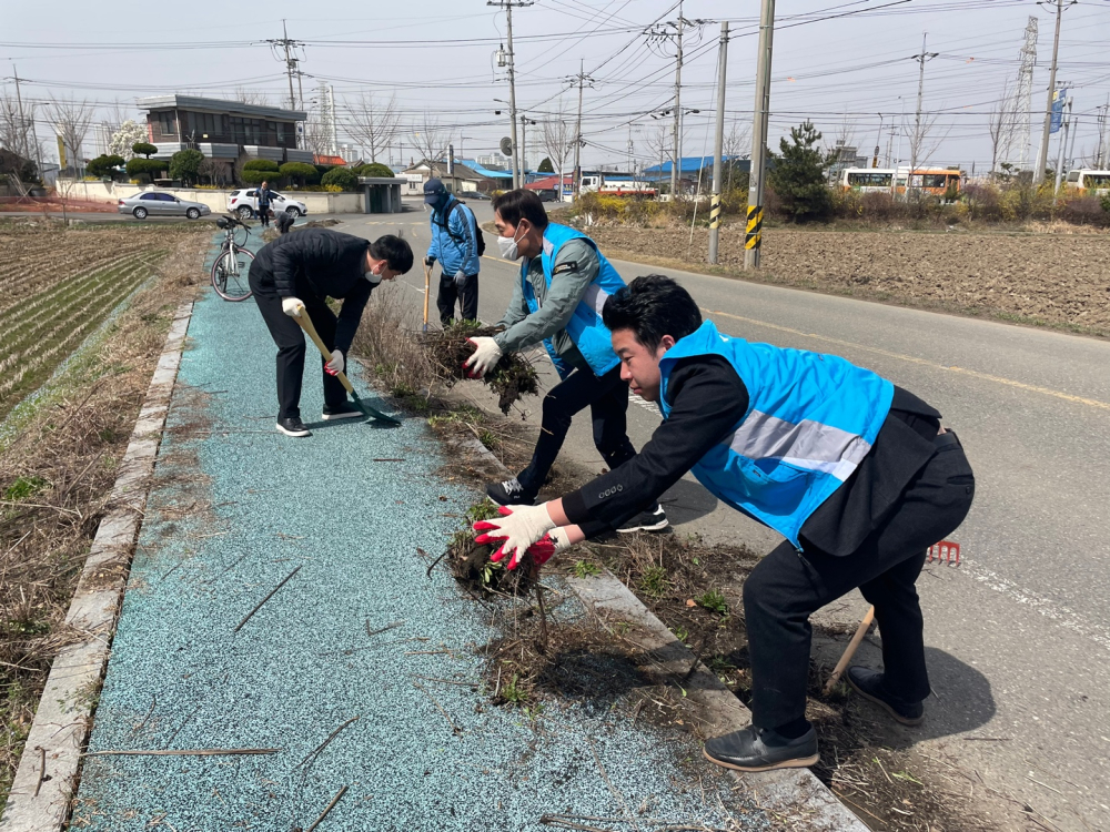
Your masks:
M 583 240 L 589 243 L 597 253 L 599 265 L 597 276 L 586 288 L 586 293 L 582 296 L 582 301 L 578 302 L 578 306 L 567 322 L 566 334 L 571 336 L 571 341 L 578 347 L 578 352 L 582 353 L 582 357 L 586 359 L 586 364 L 589 365 L 594 375 L 601 377 L 620 363 L 617 354 L 613 352 L 609 331 L 602 323 L 602 310 L 605 307 L 605 301 L 608 300 L 609 295 L 624 288 L 625 283 L 620 275 L 617 274 L 617 270 L 605 258 L 605 255 L 597 251 L 597 244 L 593 240 L 566 225 L 551 223 L 544 231 L 544 251 L 539 258 L 548 290 L 551 290 L 552 277 L 554 276 L 552 270 L 555 266 L 555 256 L 568 240 Z M 535 313 L 539 308 L 539 302 L 536 300 L 536 293 L 528 281 L 528 266 L 529 261 L 525 261 L 521 266 L 521 283 L 528 311 Z M 572 367 L 555 351 L 551 338 L 544 341 L 544 346 L 547 348 L 547 354 L 551 355 L 559 376 L 566 378 Z

